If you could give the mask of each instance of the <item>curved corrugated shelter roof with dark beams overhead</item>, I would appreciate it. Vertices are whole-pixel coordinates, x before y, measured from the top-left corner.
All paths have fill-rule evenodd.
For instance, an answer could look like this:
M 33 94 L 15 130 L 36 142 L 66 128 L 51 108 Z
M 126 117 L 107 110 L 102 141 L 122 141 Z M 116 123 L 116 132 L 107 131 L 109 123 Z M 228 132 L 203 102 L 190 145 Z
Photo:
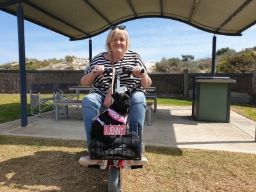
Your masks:
M 112 25 L 159 17 L 179 20 L 219 35 L 241 35 L 256 23 L 254 0 L 20 0 L 24 19 L 81 40 Z M 16 15 L 19 0 L 0 0 L 0 10 Z

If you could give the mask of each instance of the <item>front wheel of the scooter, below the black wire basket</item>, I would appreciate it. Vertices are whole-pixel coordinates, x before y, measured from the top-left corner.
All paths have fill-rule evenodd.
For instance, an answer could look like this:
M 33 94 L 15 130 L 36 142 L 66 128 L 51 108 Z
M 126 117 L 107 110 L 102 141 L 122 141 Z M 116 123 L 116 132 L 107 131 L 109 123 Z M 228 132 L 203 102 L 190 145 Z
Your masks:
M 108 175 L 108 192 L 119 192 L 121 190 L 121 170 L 111 168 Z

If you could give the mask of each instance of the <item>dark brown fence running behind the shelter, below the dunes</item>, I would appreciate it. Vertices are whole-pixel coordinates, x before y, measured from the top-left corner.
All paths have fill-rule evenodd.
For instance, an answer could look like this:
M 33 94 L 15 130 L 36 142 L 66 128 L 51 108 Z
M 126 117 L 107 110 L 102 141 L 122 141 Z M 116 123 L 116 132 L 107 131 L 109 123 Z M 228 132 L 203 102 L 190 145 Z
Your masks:
M 27 70 L 27 92 L 29 83 L 76 83 L 79 82 L 83 70 Z M 149 74 L 152 86 L 156 86 L 157 95 L 166 97 L 188 97 L 193 90 L 193 77 L 211 76 L 211 74 Z M 252 93 L 253 74 L 216 74 L 217 77 L 230 77 L 236 79 L 232 84 L 231 92 Z M 20 93 L 19 70 L 0 70 L 0 93 Z

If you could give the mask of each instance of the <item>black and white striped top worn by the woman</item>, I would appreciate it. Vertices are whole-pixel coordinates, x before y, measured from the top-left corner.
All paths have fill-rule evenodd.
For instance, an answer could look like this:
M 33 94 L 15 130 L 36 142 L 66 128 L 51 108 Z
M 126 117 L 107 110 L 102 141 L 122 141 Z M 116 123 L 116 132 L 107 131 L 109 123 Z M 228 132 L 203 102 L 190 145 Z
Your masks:
M 90 65 L 84 71 L 84 74 L 89 74 L 92 72 L 92 69 L 95 65 L 104 65 L 105 69 L 112 68 L 111 61 L 104 58 L 103 54 L 106 52 L 102 52 L 93 58 Z M 133 51 L 127 51 L 124 58 L 122 60 L 114 63 L 115 70 L 119 70 L 122 67 L 133 67 L 134 65 L 140 65 L 144 68 L 145 72 L 147 72 L 147 68 L 145 66 L 144 61 L 141 59 L 139 54 Z M 132 88 L 138 86 L 136 90 L 143 90 L 140 86 L 140 77 L 129 76 L 128 74 L 121 74 L 120 77 L 120 87 L 126 86 L 128 90 L 132 90 Z M 112 74 L 102 76 L 97 76 L 93 82 L 93 92 L 100 92 L 103 95 L 106 95 L 108 92 L 108 88 L 111 87 L 112 82 Z

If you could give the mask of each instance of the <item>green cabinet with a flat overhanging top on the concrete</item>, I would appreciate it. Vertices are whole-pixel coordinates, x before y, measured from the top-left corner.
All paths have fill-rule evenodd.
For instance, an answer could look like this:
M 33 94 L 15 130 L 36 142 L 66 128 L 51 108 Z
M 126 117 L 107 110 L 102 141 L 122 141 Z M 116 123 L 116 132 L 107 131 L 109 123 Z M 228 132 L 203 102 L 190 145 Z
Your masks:
M 192 116 L 195 120 L 229 122 L 230 77 L 194 77 Z

